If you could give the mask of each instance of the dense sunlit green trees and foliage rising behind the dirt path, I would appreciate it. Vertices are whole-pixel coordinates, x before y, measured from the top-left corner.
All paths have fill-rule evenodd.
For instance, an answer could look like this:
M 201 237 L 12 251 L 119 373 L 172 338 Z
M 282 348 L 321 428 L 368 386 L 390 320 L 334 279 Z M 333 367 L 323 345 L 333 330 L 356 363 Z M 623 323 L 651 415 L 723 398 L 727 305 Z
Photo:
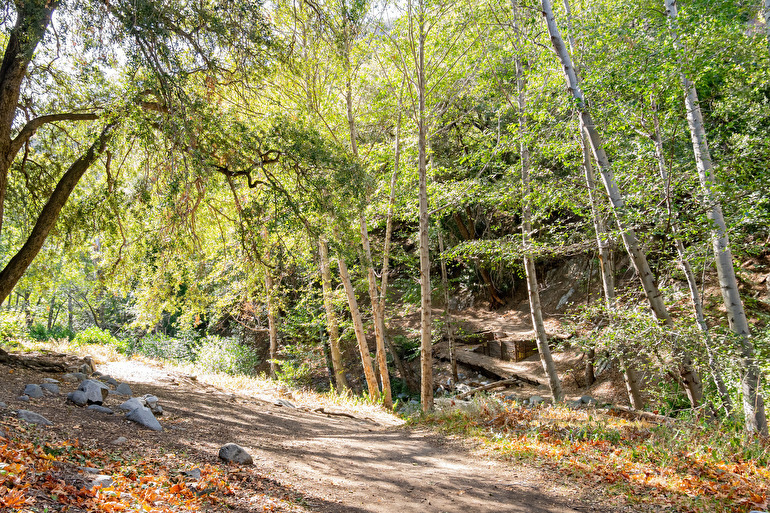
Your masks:
M 583 258 L 546 314 L 632 406 L 767 433 L 769 12 L 6 1 L 2 335 L 430 409 L 446 314 L 525 300 L 560 400 Z

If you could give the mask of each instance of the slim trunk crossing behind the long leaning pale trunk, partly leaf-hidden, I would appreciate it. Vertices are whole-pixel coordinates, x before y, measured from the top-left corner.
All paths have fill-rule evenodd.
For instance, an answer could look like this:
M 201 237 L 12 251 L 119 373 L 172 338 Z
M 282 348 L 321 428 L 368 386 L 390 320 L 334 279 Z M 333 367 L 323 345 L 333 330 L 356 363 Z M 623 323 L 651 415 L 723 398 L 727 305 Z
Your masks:
M 569 44 L 572 51 L 575 51 L 574 40 L 574 28 L 572 27 L 572 12 L 570 9 L 569 0 L 564 0 L 564 12 L 567 16 L 567 27 L 569 32 L 567 37 L 569 38 Z M 575 73 L 576 79 L 577 72 Z M 596 177 L 594 175 L 593 164 L 591 162 L 591 146 L 588 140 L 586 131 L 584 130 L 582 119 L 580 120 L 580 147 L 583 152 L 583 171 L 586 179 L 586 187 L 588 188 L 588 201 L 591 205 L 591 214 L 594 225 L 594 232 L 596 233 L 596 245 L 599 250 L 599 268 L 602 275 L 602 288 L 604 290 L 604 299 L 607 309 L 612 312 L 615 310 L 615 266 L 612 262 L 612 253 L 610 248 L 610 234 L 607 227 L 604 224 L 601 213 L 598 208 L 598 199 L 596 197 Z M 595 351 L 593 348 L 589 350 L 588 361 L 593 362 L 595 357 Z M 620 343 L 618 345 L 618 360 L 620 361 L 620 367 L 623 371 L 623 381 L 626 385 L 626 391 L 628 392 L 628 400 L 631 406 L 637 410 L 644 408 L 644 400 L 642 399 L 642 391 L 640 384 L 640 377 L 636 370 L 636 367 L 629 362 L 628 350 L 625 344 Z M 586 364 L 588 367 L 588 364 Z M 591 365 L 591 371 L 593 371 L 593 365 Z M 586 369 L 588 374 L 588 369 Z

